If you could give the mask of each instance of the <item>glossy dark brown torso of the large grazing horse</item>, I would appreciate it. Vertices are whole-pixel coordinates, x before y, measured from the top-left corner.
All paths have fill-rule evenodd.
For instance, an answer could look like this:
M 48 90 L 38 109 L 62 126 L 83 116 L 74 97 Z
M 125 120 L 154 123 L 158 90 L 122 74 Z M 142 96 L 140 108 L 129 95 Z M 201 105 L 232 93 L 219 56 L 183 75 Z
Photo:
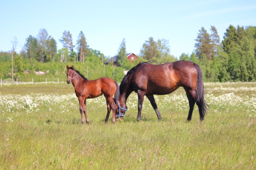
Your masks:
M 166 64 L 142 64 L 133 74 L 133 86 L 148 94 L 169 94 L 180 86 L 195 88 L 197 73 L 194 63 L 176 61 Z

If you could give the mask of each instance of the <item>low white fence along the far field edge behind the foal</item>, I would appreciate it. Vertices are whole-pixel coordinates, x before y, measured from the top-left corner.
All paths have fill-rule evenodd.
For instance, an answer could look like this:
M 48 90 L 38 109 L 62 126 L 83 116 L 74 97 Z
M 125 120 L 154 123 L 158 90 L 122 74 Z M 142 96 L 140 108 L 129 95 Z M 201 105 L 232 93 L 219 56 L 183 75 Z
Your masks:
M 66 79 L 15 79 L 14 81 L 4 81 L 1 79 L 1 87 L 3 85 L 12 85 L 12 84 L 49 84 L 49 83 L 54 83 L 54 84 L 60 84 L 60 83 L 66 83 Z

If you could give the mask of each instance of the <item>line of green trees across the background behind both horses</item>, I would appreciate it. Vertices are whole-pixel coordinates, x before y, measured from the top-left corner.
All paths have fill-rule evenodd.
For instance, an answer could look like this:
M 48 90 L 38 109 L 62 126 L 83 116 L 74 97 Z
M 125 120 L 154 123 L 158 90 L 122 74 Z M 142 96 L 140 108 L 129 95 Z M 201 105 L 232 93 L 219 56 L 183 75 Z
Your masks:
M 181 54 L 180 60 L 188 60 L 200 65 L 204 81 L 255 81 L 256 77 L 256 27 L 236 27 L 229 25 L 220 41 L 217 29 L 214 26 L 208 33 L 201 28 L 195 39 L 195 50 L 189 54 Z M 138 59 L 131 63 L 127 57 L 125 38 L 123 38 L 117 51 L 118 66 L 113 63 L 104 65 L 109 57 L 104 56 L 99 50 L 89 48 L 86 37 L 80 31 L 76 45 L 69 31 L 64 31 L 59 39 L 62 48 L 57 49 L 56 41 L 45 29 L 41 29 L 34 37 L 26 38 L 24 47 L 17 53 L 15 51 L 17 41 L 14 40 L 11 51 L 0 52 L 0 76 L 8 79 L 11 72 L 11 53 L 13 54 L 14 73 L 16 77 L 33 77 L 34 71 L 47 71 L 50 77 L 65 78 L 66 64 L 74 65 L 79 71 L 86 73 L 89 68 L 89 79 L 97 79 L 101 76 L 109 76 L 116 81 L 121 81 L 124 70 L 130 70 L 139 62 L 147 61 L 153 64 L 161 64 L 177 61 L 178 58 L 170 54 L 169 41 L 162 38 L 157 41 L 153 37 L 142 45 L 137 54 Z M 76 49 L 76 51 L 74 50 Z M 129 51 L 130 52 L 130 51 Z M 25 74 L 24 71 L 30 71 Z

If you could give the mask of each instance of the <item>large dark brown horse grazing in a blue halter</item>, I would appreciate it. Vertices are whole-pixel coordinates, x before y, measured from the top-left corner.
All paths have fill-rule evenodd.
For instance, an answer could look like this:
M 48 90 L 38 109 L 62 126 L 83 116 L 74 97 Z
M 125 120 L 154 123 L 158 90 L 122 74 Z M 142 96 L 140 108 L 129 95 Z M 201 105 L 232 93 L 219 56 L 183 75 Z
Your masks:
M 139 63 L 123 77 L 120 84 L 120 97 L 116 118 L 123 116 L 127 110 L 126 100 L 132 91 L 138 94 L 137 121 L 141 120 L 141 111 L 144 96 L 152 104 L 158 120 L 162 119 L 153 95 L 167 95 L 179 87 L 183 87 L 189 99 L 189 115 L 187 121 L 191 120 L 194 104 L 199 108 L 200 120 L 204 120 L 206 107 L 204 100 L 204 84 L 200 67 L 190 61 L 176 61 L 166 64 Z M 119 112 L 118 112 L 119 111 Z

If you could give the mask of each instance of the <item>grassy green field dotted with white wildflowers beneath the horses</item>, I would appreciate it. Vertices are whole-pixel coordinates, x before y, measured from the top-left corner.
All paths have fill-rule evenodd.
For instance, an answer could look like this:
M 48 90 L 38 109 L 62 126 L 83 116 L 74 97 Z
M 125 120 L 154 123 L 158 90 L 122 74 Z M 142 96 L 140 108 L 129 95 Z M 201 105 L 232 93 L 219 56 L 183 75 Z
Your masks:
M 123 122 L 104 123 L 104 97 L 87 100 L 80 124 L 72 85 L 0 87 L 0 169 L 255 169 L 256 83 L 205 83 L 211 107 L 192 120 L 182 88 L 155 96 L 162 121 L 137 95 Z M 111 117 L 111 116 L 110 116 Z

